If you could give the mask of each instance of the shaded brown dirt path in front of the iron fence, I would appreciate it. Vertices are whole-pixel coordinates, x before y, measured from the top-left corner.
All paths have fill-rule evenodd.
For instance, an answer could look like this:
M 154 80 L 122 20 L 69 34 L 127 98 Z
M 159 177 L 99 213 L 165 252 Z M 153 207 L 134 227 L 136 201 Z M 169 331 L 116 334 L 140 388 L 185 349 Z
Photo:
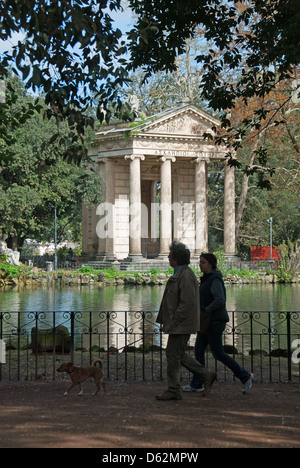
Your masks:
M 164 382 L 107 382 L 107 394 L 63 393 L 68 381 L 1 382 L 1 448 L 300 447 L 300 385 L 238 383 L 159 402 Z

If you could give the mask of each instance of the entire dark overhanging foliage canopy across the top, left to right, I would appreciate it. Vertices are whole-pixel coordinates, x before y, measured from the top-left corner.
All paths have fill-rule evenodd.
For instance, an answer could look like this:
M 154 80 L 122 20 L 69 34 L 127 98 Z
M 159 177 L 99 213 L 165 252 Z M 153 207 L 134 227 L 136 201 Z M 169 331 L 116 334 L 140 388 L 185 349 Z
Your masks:
M 0 39 L 14 32 L 23 33 L 24 39 L 3 54 L 0 78 L 13 67 L 28 88 L 43 91 L 48 117 L 57 122 L 67 119 L 73 142 L 74 127 L 82 135 L 87 125 L 94 124 L 94 117 L 85 114 L 94 98 L 97 119 L 109 120 L 111 109 L 122 107 L 118 85 L 128 81 L 128 69 L 142 67 L 146 77 L 176 70 L 186 40 L 201 26 L 203 40 L 210 45 L 196 58 L 204 69 L 202 98 L 222 112 L 222 126 L 228 130 L 219 142 L 237 149 L 249 128 L 260 128 L 262 120 L 274 121 L 280 108 L 262 106 L 234 127 L 229 110 L 239 99 L 247 104 L 255 96 L 267 96 L 294 73 L 300 58 L 298 0 L 128 3 L 137 15 L 129 43 L 110 16 L 110 11 L 121 10 L 121 0 L 4 0 Z M 125 55 L 128 47 L 130 59 Z M 226 70 L 231 71 L 231 80 L 224 83 Z M 133 117 L 128 109 L 126 115 Z

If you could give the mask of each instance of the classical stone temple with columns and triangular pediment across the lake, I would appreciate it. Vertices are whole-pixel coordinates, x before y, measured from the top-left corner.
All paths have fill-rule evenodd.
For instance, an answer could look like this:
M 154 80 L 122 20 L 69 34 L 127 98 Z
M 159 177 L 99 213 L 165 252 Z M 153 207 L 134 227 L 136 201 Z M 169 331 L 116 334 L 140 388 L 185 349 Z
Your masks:
M 90 260 L 165 259 L 172 240 L 208 251 L 208 164 L 224 161 L 224 250 L 235 255 L 235 177 L 226 148 L 203 137 L 220 122 L 191 103 L 101 129 L 90 150 L 103 203 L 83 206 Z

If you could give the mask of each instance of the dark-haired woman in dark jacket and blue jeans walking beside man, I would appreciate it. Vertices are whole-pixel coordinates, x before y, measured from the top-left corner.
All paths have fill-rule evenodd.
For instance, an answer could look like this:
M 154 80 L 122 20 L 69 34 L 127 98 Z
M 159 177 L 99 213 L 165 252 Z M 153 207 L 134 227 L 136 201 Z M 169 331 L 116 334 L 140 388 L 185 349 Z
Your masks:
M 217 270 L 217 259 L 210 253 L 200 256 L 200 269 L 203 273 L 200 284 L 200 332 L 195 344 L 195 357 L 200 364 L 205 365 L 205 350 L 210 346 L 217 361 L 222 362 L 232 370 L 243 385 L 243 394 L 252 388 L 253 374 L 243 369 L 223 349 L 222 336 L 229 321 L 226 310 L 226 289 L 222 273 Z M 189 385 L 182 387 L 185 392 L 202 392 L 203 383 L 197 376 Z

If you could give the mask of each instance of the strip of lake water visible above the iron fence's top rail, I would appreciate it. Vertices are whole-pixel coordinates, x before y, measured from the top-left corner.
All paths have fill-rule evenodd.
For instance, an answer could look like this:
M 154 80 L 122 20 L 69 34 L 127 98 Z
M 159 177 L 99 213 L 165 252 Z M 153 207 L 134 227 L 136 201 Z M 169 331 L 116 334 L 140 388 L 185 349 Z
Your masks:
M 159 309 L 164 286 L 51 286 L 0 289 L 0 312 Z M 230 311 L 299 311 L 300 284 L 227 287 Z

